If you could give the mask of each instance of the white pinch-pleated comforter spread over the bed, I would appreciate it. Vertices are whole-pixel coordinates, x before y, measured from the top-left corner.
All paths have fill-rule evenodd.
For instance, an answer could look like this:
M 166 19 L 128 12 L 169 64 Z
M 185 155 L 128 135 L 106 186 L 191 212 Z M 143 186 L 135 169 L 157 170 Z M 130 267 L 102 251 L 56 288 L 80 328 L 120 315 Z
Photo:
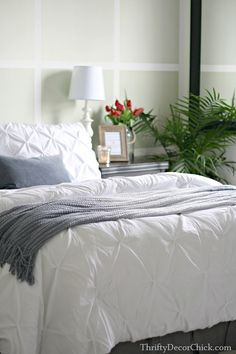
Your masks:
M 217 185 L 163 173 L 0 191 L 0 211 L 77 194 Z M 236 319 L 236 207 L 77 226 L 37 258 L 36 284 L 0 268 L 2 354 L 104 354 L 116 343 Z

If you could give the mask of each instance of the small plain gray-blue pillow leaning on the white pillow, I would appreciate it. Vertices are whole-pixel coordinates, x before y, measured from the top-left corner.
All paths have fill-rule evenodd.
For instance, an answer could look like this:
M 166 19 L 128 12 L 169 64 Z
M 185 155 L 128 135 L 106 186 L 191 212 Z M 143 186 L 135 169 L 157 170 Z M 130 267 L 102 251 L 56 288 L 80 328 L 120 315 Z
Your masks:
M 70 182 L 60 155 L 16 158 L 0 156 L 0 189 Z

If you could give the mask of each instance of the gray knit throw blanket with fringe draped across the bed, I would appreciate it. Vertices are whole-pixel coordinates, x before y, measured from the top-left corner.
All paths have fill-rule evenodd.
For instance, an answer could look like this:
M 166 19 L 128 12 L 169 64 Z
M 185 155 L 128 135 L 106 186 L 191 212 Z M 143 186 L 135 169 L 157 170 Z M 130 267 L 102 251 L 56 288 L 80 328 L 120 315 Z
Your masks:
M 236 205 L 232 186 L 138 192 L 134 195 L 81 196 L 14 207 L 0 214 L 0 266 L 34 284 L 39 249 L 60 231 L 75 225 L 118 219 L 183 214 Z M 158 222 L 158 219 L 157 221 Z

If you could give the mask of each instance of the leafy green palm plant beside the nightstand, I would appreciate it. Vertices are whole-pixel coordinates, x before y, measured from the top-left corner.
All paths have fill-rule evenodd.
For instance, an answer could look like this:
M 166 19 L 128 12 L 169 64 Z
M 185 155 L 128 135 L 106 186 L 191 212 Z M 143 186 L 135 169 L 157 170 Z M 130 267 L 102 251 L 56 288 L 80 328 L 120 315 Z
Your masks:
M 227 146 L 236 140 L 236 104 L 222 99 L 215 90 L 206 96 L 190 95 L 171 105 L 171 115 L 160 126 L 156 117 L 140 117 L 135 130 L 151 133 L 164 148 L 170 171 L 195 173 L 227 182 L 220 169 L 234 171 L 234 161 L 225 157 Z

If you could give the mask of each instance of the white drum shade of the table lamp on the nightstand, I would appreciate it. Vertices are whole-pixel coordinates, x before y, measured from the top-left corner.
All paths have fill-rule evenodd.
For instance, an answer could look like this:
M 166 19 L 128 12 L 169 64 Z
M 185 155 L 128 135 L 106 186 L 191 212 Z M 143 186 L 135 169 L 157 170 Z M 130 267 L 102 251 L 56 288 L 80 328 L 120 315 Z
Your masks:
M 103 101 L 105 94 L 102 68 L 75 66 L 71 77 L 69 98 Z

